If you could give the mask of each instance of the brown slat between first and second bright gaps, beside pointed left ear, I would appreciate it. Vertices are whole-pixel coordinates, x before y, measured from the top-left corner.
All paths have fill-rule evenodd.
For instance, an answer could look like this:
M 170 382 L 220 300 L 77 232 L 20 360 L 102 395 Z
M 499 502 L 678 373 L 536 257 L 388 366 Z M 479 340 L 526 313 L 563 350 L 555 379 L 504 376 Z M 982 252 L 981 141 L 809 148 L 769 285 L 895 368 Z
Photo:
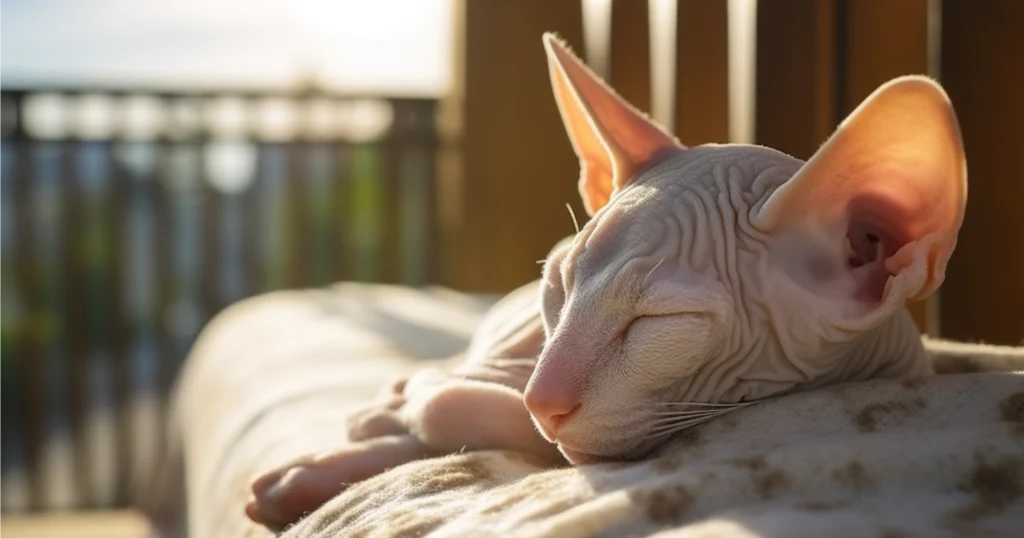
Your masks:
M 611 1 L 608 83 L 637 109 L 650 112 L 650 28 L 647 0 Z

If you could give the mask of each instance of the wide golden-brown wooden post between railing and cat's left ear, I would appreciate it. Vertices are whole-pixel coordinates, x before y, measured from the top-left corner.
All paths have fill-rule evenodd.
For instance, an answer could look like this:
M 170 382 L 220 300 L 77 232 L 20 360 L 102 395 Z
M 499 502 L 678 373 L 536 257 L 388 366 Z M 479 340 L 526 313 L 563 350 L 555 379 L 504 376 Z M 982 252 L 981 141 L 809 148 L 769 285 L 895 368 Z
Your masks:
M 458 4 L 456 77 L 446 97 L 444 282 L 502 291 L 539 277 L 535 260 L 572 233 L 580 167 L 552 97 L 541 35 L 558 32 L 583 50 L 579 1 Z M 528 216 L 527 216 L 528 215 Z

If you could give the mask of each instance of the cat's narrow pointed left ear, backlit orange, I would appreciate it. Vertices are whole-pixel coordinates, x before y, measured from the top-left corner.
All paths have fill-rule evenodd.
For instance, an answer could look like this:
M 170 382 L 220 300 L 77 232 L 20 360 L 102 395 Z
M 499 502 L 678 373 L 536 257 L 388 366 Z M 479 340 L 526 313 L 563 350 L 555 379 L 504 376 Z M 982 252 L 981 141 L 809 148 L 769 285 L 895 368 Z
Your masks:
M 554 34 L 544 35 L 555 101 L 580 158 L 580 195 L 593 215 L 643 166 L 679 141 L 626 102 Z

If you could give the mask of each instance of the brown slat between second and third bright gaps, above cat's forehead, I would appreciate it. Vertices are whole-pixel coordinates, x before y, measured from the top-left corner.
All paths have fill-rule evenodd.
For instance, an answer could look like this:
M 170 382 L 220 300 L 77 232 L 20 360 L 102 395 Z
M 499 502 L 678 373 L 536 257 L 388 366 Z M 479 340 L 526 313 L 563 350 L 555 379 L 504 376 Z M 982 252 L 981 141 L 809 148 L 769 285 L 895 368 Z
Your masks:
M 726 142 L 728 2 L 677 2 L 675 132 L 688 146 Z

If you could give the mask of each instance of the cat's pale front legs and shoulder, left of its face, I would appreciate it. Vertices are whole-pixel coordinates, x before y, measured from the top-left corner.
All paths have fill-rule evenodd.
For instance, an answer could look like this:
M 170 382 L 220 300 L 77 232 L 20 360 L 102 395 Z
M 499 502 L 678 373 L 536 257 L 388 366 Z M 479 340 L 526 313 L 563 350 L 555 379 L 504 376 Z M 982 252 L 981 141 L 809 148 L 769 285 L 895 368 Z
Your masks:
M 303 456 L 256 479 L 246 513 L 280 529 L 349 484 L 464 450 L 517 450 L 562 462 L 534 427 L 522 401 L 544 344 L 537 286 L 522 286 L 496 303 L 465 357 L 390 383 L 353 413 L 347 443 L 337 450 Z

